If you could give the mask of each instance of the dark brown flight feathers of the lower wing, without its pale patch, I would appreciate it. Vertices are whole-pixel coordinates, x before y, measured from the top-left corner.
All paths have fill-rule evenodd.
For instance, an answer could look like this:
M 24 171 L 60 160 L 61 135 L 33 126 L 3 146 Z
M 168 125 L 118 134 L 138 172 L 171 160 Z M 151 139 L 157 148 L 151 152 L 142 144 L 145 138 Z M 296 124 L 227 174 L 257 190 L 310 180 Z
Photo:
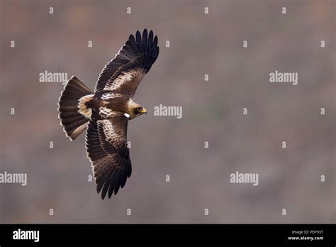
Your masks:
M 129 150 L 125 146 L 114 148 L 112 144 L 108 145 L 104 141 L 103 145 L 107 149 L 110 148 L 108 153 L 104 150 L 101 140 L 106 140 L 106 135 L 102 126 L 101 123 L 90 121 L 86 131 L 86 153 L 91 160 L 97 193 L 101 192 L 101 198 L 104 199 L 106 194 L 111 198 L 113 192 L 117 194 L 119 188 L 125 186 L 132 173 L 132 165 Z

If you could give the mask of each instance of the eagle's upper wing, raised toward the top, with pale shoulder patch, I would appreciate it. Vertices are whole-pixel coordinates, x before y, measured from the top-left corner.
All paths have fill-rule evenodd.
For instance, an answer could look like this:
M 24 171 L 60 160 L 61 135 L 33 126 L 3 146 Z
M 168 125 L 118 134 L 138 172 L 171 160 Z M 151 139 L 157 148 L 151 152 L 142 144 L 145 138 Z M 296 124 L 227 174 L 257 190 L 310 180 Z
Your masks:
M 137 31 L 130 35 L 118 54 L 103 68 L 95 92 L 113 91 L 133 97 L 141 79 L 157 60 L 157 36 L 145 29 L 142 36 Z

